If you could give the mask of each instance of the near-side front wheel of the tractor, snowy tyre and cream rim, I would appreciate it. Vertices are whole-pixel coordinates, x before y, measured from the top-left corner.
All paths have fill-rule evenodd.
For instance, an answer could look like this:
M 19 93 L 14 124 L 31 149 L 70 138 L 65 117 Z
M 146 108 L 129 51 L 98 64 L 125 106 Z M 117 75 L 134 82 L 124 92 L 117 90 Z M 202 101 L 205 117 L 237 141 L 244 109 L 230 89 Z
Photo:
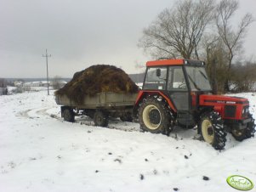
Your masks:
M 198 128 L 202 138 L 212 144 L 215 150 L 224 149 L 226 133 L 221 116 L 217 112 L 210 111 L 202 115 Z

